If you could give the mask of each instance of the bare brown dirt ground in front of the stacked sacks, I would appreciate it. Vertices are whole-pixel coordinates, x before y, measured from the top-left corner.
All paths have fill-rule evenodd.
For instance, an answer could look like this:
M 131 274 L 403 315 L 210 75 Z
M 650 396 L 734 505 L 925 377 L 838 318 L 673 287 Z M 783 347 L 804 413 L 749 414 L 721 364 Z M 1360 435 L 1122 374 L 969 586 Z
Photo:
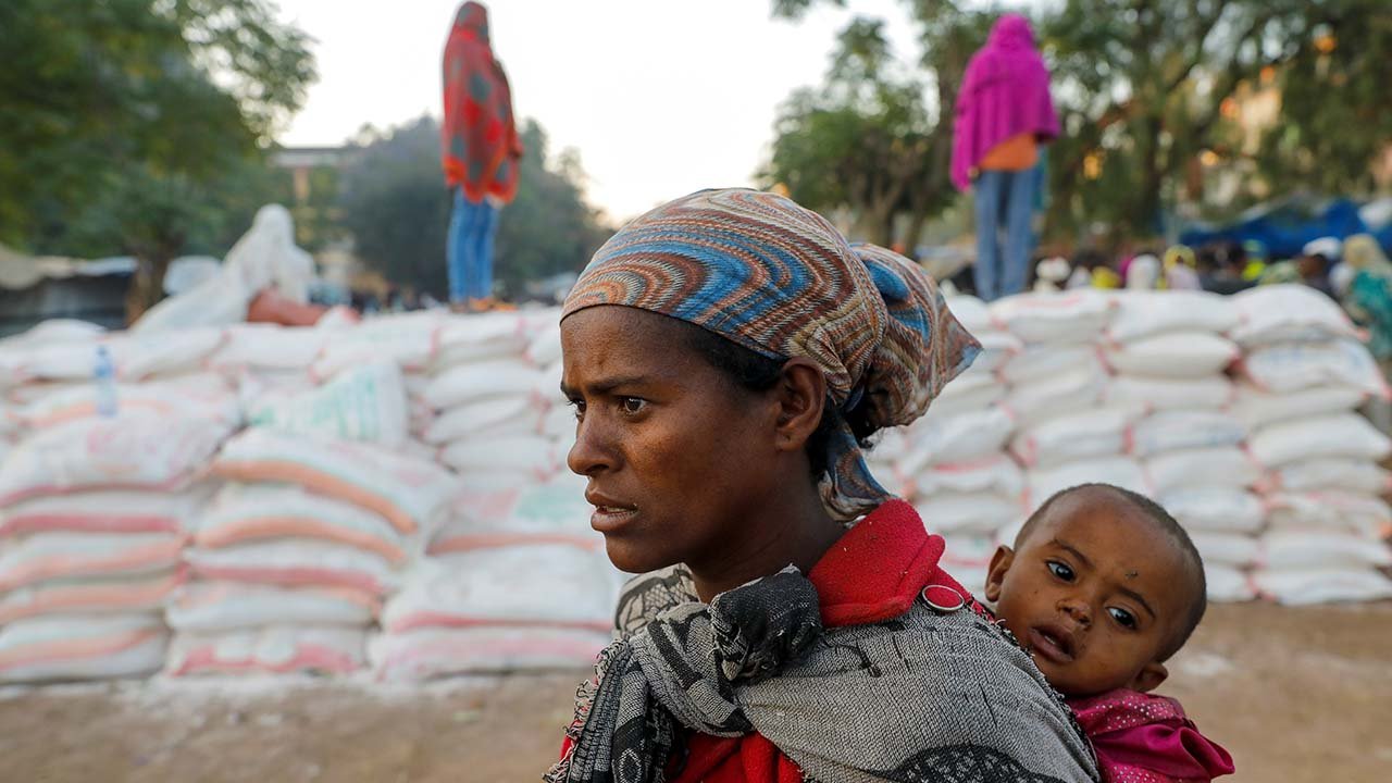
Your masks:
M 1392 603 L 1215 606 L 1162 688 L 1233 780 L 1392 780 Z M 530 782 L 582 672 L 425 687 L 252 680 L 0 691 L 0 780 Z

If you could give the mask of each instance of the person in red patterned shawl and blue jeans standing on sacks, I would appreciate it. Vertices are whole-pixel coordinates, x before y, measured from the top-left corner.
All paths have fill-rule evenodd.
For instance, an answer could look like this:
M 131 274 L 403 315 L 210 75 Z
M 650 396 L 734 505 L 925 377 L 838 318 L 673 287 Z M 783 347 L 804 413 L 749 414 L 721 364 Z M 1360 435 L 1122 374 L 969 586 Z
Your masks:
M 493 301 L 493 237 L 498 210 L 518 188 L 522 142 L 512 91 L 489 42 L 489 11 L 465 3 L 444 47 L 444 178 L 454 192 L 445 258 L 450 308 L 483 311 Z

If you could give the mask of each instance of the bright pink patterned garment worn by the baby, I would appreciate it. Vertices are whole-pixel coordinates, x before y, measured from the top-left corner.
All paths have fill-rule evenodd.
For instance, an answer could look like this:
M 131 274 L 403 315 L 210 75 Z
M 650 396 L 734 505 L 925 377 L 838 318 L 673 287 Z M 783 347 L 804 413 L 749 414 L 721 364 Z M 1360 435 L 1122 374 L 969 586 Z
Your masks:
M 1228 751 L 1172 698 L 1118 688 L 1068 705 L 1093 741 L 1104 783 L 1205 783 L 1233 772 Z

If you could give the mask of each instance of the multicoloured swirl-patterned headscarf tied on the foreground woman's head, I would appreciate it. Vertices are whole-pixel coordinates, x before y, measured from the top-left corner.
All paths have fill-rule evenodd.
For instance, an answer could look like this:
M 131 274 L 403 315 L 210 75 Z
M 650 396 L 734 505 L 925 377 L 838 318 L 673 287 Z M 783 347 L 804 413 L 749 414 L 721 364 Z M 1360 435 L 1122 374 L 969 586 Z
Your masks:
M 866 405 L 876 428 L 923 415 L 980 346 L 917 265 L 852 248 L 820 215 L 780 195 L 700 191 L 633 220 L 594 254 L 561 318 L 625 305 L 702 326 L 773 359 L 807 357 L 831 405 Z M 842 417 L 823 500 L 841 518 L 889 493 Z

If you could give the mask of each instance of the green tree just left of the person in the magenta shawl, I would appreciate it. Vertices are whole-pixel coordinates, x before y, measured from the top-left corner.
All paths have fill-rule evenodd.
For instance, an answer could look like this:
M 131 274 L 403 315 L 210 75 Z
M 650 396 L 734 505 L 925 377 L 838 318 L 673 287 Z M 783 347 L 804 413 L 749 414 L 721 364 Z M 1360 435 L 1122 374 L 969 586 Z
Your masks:
M 775 13 L 796 15 L 809 6 L 780 0 Z M 812 209 L 849 209 L 862 238 L 888 245 L 905 222 L 903 240 L 916 242 L 955 198 L 951 107 L 984 33 L 983 14 L 942 3 L 923 29 L 924 67 L 913 72 L 892 57 L 883 21 L 853 20 L 839 33 L 823 86 L 798 91 L 780 111 L 760 180 L 784 184 Z

